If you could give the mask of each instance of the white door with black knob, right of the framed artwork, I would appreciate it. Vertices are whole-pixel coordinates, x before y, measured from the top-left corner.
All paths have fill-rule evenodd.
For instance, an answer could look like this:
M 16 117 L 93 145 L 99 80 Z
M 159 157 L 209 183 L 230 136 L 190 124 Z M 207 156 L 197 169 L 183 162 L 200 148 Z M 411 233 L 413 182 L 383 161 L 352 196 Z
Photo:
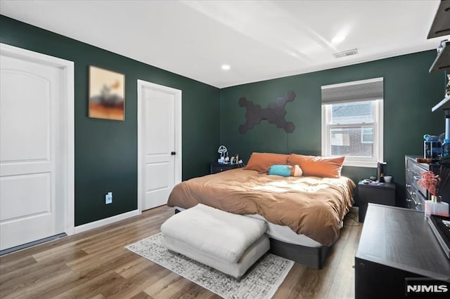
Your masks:
M 167 204 L 181 181 L 181 91 L 138 81 L 141 210 Z

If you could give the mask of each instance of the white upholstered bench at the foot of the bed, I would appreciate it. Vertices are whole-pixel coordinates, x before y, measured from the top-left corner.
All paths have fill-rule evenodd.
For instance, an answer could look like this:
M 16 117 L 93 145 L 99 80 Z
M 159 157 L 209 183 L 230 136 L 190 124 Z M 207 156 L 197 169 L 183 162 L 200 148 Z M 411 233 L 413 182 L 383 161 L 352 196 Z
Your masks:
M 266 222 L 198 204 L 161 225 L 162 244 L 236 279 L 269 251 Z

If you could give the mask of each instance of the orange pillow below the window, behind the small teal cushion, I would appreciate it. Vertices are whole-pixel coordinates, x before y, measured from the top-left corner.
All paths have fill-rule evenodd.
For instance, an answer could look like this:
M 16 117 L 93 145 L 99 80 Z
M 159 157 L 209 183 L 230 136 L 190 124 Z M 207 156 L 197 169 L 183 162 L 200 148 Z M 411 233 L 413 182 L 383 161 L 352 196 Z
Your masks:
M 290 154 L 289 165 L 298 165 L 303 175 L 319 176 L 322 178 L 339 178 L 345 157 L 316 157 L 302 154 Z

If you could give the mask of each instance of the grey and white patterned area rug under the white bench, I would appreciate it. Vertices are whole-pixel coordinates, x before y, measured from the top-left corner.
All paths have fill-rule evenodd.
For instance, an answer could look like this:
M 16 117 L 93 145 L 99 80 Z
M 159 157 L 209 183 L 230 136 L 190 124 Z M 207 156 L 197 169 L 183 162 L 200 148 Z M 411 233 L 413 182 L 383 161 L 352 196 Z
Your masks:
M 294 265 L 292 260 L 266 253 L 240 281 L 236 281 L 212 267 L 168 251 L 162 246 L 162 233 L 125 248 L 223 298 L 272 298 Z

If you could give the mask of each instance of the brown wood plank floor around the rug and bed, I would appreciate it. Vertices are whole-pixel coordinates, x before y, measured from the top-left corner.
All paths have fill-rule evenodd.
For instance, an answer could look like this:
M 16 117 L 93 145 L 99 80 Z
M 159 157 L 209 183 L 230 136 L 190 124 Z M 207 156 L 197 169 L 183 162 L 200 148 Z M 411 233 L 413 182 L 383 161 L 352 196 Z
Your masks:
M 124 246 L 160 232 L 162 206 L 105 227 L 0 258 L 0 298 L 220 298 Z M 354 298 L 362 225 L 347 214 L 326 267 L 295 264 L 274 298 Z

